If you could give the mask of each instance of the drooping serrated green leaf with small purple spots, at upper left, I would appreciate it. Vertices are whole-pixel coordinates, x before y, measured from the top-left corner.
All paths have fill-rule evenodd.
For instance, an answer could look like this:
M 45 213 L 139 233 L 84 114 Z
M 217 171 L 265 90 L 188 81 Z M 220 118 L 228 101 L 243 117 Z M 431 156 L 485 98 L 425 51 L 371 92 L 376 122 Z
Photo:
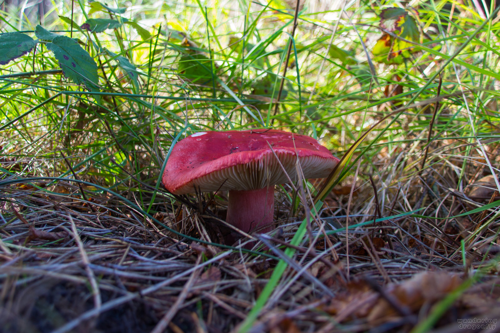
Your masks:
M 52 42 L 46 43 L 46 46 L 59 61 L 64 76 L 76 84 L 85 84 L 90 91 L 99 91 L 97 65 L 90 54 L 81 48 L 74 39 L 57 36 L 52 39 Z

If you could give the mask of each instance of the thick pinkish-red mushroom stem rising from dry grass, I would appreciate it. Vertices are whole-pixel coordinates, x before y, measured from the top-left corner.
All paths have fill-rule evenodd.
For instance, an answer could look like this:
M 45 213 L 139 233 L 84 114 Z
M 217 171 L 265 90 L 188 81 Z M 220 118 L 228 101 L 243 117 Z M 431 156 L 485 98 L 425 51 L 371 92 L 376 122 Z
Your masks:
M 272 229 L 273 218 L 273 185 L 258 190 L 229 191 L 227 223 L 246 233 L 268 225 L 263 229 L 259 229 L 259 233 L 266 233 Z

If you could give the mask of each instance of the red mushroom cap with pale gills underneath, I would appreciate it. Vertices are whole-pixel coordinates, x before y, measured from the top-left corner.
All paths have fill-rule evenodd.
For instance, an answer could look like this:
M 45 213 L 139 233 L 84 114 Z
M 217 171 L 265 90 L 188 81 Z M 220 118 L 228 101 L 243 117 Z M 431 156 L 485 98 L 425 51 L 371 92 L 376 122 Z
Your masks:
M 282 167 L 277 163 L 276 156 Z M 323 178 L 338 159 L 315 139 L 280 130 L 207 131 L 173 147 L 162 182 L 173 194 L 256 190 L 297 178 Z M 286 174 L 283 172 L 286 170 Z

